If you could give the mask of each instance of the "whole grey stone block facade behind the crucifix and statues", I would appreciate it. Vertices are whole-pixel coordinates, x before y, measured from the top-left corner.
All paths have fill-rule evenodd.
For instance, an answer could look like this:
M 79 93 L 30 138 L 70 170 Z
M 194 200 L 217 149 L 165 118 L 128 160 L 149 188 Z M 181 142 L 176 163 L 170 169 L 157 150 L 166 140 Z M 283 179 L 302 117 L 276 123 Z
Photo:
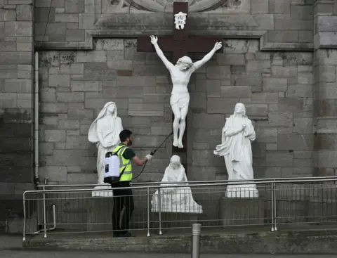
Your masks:
M 138 53 L 133 39 L 171 34 L 171 13 L 119 4 L 0 0 L 0 197 L 7 200 L 0 224 L 20 217 L 22 191 L 32 188 L 33 51 L 41 52 L 41 181 L 95 183 L 88 127 L 107 101 L 117 103 L 124 128 L 134 131 L 140 156 L 171 132 L 167 70 L 155 53 Z M 213 150 L 238 101 L 256 128 L 256 178 L 335 175 L 336 1 L 246 0 L 235 10 L 202 13 L 194 7 L 190 34 L 226 40 L 223 53 L 190 81 L 188 179 L 227 178 Z M 170 139 L 139 181 L 159 181 L 171 149 Z M 204 199 L 196 196 L 215 214 Z

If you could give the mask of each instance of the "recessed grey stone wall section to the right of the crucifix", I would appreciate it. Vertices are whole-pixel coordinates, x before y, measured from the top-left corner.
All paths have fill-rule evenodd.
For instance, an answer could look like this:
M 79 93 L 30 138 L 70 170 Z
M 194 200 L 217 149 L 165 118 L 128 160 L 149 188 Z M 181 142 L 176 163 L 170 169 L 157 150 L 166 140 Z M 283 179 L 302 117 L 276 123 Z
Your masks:
M 223 174 L 224 160 L 213 150 L 238 101 L 255 121 L 256 178 L 312 175 L 312 53 L 258 49 L 257 40 L 225 41 L 225 53 L 191 85 L 194 179 Z

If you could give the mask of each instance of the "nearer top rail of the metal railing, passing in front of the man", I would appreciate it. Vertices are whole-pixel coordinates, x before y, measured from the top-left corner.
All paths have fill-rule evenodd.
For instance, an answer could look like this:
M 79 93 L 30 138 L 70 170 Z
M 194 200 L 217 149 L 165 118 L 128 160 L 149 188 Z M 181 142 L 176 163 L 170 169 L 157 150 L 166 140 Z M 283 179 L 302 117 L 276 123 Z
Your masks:
M 200 183 L 200 184 L 194 184 L 191 185 L 189 182 L 185 182 L 185 183 L 189 183 L 189 186 L 192 187 L 197 187 L 197 186 L 236 186 L 236 185 L 240 185 L 240 184 L 265 184 L 265 183 L 308 183 L 308 182 L 336 182 L 337 178 L 335 179 L 311 179 L 311 180 L 274 180 L 274 181 L 231 181 L 230 183 Z M 186 186 L 186 185 L 185 185 Z M 119 188 L 109 188 L 109 190 L 122 190 L 122 189 L 147 189 L 147 188 L 169 188 L 169 187 L 175 187 L 175 188 L 179 188 L 179 187 L 185 187 L 183 186 L 131 186 L 131 187 L 119 187 Z M 89 191 L 93 191 L 93 189 L 61 189 L 61 190 L 38 190 L 38 191 L 25 191 L 25 193 L 23 193 L 24 195 L 26 193 L 70 193 L 70 192 L 89 192 Z M 96 189 L 95 191 L 107 191 L 107 189 Z

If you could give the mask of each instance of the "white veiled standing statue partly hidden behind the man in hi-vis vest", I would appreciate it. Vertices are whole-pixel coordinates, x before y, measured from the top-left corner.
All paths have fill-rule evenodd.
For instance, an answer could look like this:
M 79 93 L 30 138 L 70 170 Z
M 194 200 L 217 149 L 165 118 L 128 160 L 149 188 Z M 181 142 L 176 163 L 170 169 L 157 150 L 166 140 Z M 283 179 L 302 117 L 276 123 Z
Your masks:
M 93 121 L 88 132 L 88 140 L 97 143 L 97 173 L 98 184 L 104 184 L 104 160 L 105 154 L 114 150 L 120 143 L 119 133 L 123 131 L 121 118 L 117 117 L 117 106 L 114 102 L 108 102 L 100 110 L 98 117 Z

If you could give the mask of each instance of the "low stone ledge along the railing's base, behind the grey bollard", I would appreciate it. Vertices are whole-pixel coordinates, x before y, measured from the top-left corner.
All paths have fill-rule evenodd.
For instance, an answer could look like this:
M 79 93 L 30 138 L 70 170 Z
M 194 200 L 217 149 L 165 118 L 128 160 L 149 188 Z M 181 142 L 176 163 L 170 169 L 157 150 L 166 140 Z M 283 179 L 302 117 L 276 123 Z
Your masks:
M 201 228 L 201 253 L 221 254 L 336 254 L 337 229 L 309 227 L 308 230 L 249 232 L 245 230 L 207 233 Z M 316 228 L 316 229 L 315 229 Z M 267 228 L 265 228 L 267 230 Z M 203 232 L 204 231 L 204 232 Z M 247 229 L 246 231 L 249 231 Z M 251 231 L 251 230 L 250 230 Z M 216 233 L 214 233 L 216 232 Z M 230 230 L 226 230 L 230 232 Z M 137 238 L 112 238 L 112 233 L 48 234 L 23 241 L 25 249 L 34 250 L 105 250 L 112 252 L 189 253 L 191 233 L 176 233 Z M 104 237 L 105 236 L 105 237 Z

